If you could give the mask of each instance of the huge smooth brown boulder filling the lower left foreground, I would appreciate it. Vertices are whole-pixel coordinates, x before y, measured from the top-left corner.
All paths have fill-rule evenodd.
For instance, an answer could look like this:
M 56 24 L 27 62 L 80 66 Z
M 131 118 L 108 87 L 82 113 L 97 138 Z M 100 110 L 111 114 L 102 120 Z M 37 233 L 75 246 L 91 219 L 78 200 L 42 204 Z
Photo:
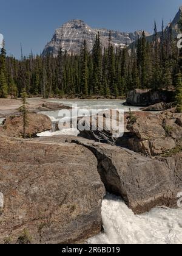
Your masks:
M 0 137 L 0 243 L 78 243 L 101 232 L 104 185 L 76 144 Z

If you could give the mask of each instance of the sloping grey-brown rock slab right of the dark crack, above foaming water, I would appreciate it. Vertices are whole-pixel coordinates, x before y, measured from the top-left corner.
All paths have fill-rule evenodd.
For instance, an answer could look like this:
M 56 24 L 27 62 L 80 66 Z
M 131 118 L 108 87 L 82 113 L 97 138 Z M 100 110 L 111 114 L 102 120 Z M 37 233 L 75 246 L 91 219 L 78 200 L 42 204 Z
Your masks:
M 182 190 L 182 152 L 174 157 L 152 159 L 84 138 L 58 136 L 39 140 L 72 142 L 92 151 L 106 190 L 123 197 L 136 214 L 157 205 L 177 207 L 177 194 Z

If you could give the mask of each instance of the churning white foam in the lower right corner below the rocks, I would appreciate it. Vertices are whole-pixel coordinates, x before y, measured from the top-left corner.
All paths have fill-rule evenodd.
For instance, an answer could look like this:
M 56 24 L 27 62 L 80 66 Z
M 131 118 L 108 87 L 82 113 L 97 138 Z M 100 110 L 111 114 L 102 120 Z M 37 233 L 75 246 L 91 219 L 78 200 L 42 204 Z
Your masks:
M 104 232 L 90 244 L 182 244 L 182 208 L 157 207 L 134 215 L 121 197 L 107 194 L 103 201 Z

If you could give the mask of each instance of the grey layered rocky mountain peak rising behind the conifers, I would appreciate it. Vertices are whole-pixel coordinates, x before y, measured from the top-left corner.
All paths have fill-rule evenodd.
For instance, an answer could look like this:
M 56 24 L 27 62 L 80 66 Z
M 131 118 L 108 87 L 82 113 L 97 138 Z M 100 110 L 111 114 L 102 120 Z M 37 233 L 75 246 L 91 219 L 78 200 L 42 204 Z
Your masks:
M 44 48 L 43 55 L 52 53 L 54 56 L 58 54 L 60 48 L 69 54 L 78 54 L 83 40 L 87 41 L 87 48 L 92 51 L 96 34 L 100 34 L 103 48 L 108 45 L 109 38 L 108 29 L 93 29 L 82 20 L 70 20 L 56 29 L 52 40 L 47 43 Z M 133 33 L 125 33 L 111 30 L 112 43 L 116 46 L 124 47 L 135 41 L 142 34 L 142 30 Z M 146 36 L 150 35 L 146 32 Z

